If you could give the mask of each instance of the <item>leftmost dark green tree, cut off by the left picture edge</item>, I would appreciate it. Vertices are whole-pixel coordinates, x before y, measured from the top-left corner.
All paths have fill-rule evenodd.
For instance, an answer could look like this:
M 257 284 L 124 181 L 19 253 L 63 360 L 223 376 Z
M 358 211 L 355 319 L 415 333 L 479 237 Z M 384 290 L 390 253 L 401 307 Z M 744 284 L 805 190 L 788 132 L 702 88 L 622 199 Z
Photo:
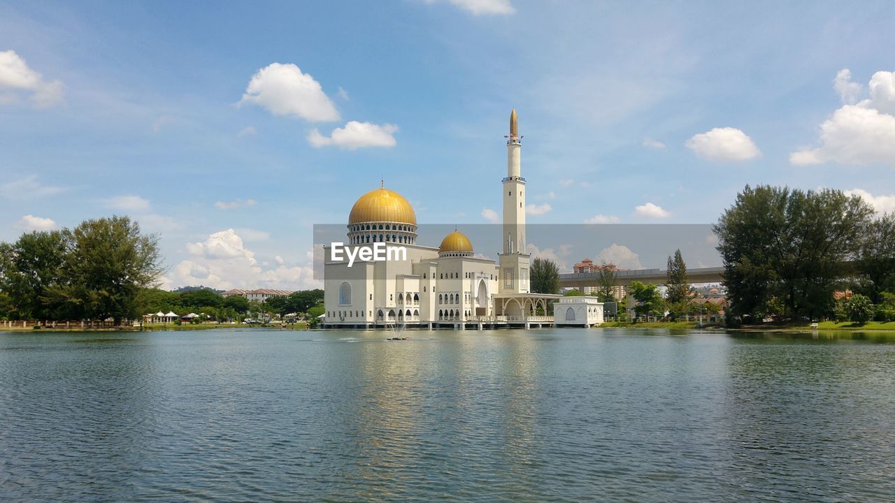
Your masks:
M 0 291 L 9 295 L 10 315 L 20 319 L 55 319 L 47 291 L 62 280 L 68 245 L 62 231 L 21 234 L 0 244 Z

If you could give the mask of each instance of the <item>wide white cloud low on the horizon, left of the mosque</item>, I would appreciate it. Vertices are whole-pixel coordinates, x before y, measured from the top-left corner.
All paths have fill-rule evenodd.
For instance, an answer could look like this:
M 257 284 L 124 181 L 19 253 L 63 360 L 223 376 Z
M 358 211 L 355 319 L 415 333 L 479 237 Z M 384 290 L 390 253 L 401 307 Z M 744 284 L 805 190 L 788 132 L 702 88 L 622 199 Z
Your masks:
M 215 288 L 320 288 L 320 281 L 313 278 L 311 252 L 306 253 L 306 263 L 286 266 L 287 260 L 274 257 L 277 266 L 265 269 L 255 260 L 255 253 L 245 248 L 243 239 L 234 229 L 210 234 L 199 243 L 186 243 L 190 259 L 182 260 L 164 280 L 166 286 L 202 284 Z

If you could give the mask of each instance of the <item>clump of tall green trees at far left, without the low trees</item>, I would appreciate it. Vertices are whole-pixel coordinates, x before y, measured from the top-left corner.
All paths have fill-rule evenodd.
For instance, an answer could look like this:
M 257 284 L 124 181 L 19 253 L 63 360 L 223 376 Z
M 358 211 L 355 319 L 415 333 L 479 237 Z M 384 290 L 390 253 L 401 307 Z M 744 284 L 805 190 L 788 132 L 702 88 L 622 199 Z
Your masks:
M 0 243 L 0 316 L 18 320 L 129 320 L 163 269 L 158 235 L 129 217 L 21 234 Z

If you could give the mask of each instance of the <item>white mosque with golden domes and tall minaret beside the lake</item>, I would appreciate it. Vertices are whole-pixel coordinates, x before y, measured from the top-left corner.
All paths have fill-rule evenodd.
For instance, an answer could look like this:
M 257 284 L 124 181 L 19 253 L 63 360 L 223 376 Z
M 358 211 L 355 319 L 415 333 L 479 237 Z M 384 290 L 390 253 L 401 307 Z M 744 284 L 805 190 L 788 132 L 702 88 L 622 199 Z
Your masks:
M 334 253 L 334 246 L 324 246 L 323 326 L 482 328 L 484 323 L 528 328 L 552 323 L 546 316 L 548 304 L 560 295 L 530 292 L 521 139 L 514 108 L 502 182 L 503 226 L 495 226 L 502 229 L 498 260 L 475 256 L 473 243 L 458 230 L 447 234 L 438 248 L 417 243 L 413 207 L 383 183 L 354 203 L 345 248 L 386 243 L 404 247 L 405 257 L 350 263 Z

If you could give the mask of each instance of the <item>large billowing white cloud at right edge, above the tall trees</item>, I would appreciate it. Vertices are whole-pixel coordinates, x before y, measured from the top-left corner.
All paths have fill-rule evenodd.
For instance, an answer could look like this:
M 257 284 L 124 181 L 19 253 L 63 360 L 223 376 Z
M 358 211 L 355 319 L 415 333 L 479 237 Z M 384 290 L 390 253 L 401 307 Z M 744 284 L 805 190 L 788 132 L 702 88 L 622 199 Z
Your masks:
M 851 72 L 841 70 L 833 81 L 846 105 L 821 124 L 815 149 L 789 154 L 789 163 L 807 166 L 836 162 L 845 165 L 895 166 L 895 72 L 875 72 L 868 88 L 870 98 L 857 105 L 860 85 L 851 85 Z M 843 94 L 845 90 L 845 94 Z

